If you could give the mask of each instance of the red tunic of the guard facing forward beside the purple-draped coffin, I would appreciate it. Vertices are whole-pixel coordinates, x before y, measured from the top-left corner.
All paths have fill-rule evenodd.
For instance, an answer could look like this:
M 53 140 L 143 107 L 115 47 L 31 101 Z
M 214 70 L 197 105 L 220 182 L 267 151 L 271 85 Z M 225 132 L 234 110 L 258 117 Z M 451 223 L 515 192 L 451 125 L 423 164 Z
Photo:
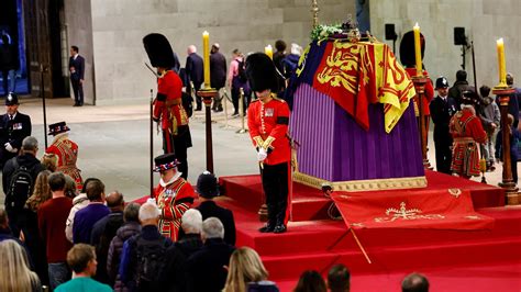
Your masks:
M 288 137 L 289 106 L 280 99 L 271 99 L 267 103 L 258 100 L 252 102 L 247 110 L 247 126 L 250 136 L 255 147 L 262 147 L 258 144 L 260 137 L 266 150 L 269 148 L 266 165 L 278 165 L 287 162 L 291 158 L 291 147 Z M 268 137 L 270 137 L 268 139 Z M 271 141 L 269 143 L 269 141 Z

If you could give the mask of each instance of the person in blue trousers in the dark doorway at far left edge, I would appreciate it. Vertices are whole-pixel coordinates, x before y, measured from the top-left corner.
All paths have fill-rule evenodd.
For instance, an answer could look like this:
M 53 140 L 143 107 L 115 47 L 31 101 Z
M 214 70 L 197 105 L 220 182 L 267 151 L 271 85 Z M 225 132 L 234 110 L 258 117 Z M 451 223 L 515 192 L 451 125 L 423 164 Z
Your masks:
M 2 34 L 2 44 L 0 44 L 0 71 L 5 96 L 8 92 L 16 92 L 16 70 L 20 69 L 18 47 L 9 38 L 8 34 Z

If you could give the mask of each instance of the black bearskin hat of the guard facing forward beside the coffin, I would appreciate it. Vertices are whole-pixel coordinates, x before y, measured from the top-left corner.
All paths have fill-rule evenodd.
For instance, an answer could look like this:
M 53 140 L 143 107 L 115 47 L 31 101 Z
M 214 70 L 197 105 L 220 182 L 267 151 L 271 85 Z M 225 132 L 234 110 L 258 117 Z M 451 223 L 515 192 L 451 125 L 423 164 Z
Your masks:
M 278 90 L 275 64 L 264 53 L 255 53 L 246 58 L 246 76 L 253 91 Z

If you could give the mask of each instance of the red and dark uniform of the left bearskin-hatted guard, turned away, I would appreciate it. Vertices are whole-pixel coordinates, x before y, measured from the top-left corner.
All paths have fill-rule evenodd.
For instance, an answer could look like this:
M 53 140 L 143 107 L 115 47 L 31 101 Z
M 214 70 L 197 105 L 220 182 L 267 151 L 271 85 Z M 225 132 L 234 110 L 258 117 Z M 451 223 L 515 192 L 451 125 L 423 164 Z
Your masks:
M 191 147 L 188 115 L 181 102 L 182 81 L 177 74 L 166 70 L 157 79 L 157 98 L 154 102 L 154 120 L 160 121 L 163 150 L 175 153 L 179 171 L 188 177 L 187 149 Z

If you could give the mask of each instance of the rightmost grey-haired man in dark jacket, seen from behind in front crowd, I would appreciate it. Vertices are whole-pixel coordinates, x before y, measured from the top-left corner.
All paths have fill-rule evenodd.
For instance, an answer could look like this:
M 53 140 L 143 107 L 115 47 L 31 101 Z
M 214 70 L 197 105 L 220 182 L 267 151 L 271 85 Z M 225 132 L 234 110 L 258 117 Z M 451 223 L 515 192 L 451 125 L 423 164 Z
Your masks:
M 201 238 L 204 245 L 186 263 L 188 291 L 222 291 L 235 248 L 224 242 L 224 226 L 217 217 L 202 222 Z

